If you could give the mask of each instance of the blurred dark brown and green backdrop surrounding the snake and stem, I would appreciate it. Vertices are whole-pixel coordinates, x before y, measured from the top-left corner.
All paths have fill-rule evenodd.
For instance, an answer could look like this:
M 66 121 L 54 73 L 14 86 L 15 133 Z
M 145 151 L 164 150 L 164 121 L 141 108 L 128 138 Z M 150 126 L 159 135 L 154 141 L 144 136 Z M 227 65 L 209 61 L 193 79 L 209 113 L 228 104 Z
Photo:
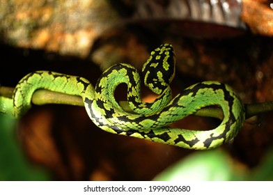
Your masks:
M 173 95 L 198 81 L 231 85 L 246 104 L 273 100 L 273 1 L 0 0 L 1 86 L 52 70 L 92 84 L 115 63 L 141 70 L 164 42 L 176 52 Z M 126 88 L 117 99 L 125 100 Z M 153 99 L 143 88 L 143 99 Z M 195 151 L 109 134 L 84 107 L 0 115 L 0 180 L 272 180 L 272 112 L 230 143 Z M 173 124 L 209 129 L 189 116 Z

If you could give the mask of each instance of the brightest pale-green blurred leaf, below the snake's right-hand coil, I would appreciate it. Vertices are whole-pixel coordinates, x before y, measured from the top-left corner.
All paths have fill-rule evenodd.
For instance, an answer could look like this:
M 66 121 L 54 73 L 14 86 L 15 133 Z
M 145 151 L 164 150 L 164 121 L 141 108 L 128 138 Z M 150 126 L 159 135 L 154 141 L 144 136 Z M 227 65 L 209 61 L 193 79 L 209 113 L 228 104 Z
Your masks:
M 192 153 L 160 173 L 154 180 L 244 180 L 244 173 L 235 170 L 231 157 L 224 150 L 214 149 Z

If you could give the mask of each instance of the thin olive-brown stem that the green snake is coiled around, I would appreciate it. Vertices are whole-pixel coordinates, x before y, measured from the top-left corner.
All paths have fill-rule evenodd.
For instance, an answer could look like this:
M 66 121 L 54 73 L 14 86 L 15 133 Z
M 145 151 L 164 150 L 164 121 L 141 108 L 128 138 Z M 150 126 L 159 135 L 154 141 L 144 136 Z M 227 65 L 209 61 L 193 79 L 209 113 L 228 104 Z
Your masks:
M 6 98 L 13 98 L 14 88 L 0 86 L 0 96 Z M 36 105 L 43 104 L 68 104 L 74 106 L 84 107 L 84 102 L 82 98 L 78 95 L 68 95 L 65 93 L 58 93 L 54 91 L 49 91 L 46 89 L 39 89 L 35 93 L 33 93 L 31 102 Z M 120 107 L 125 109 L 130 113 L 133 113 L 127 104 L 126 101 L 120 101 Z M 273 111 L 273 101 L 255 103 L 255 104 L 244 104 L 244 109 L 246 111 L 246 119 L 251 118 L 252 116 L 256 116 L 258 114 L 263 114 L 267 111 Z M 223 112 L 220 107 L 205 107 L 198 111 L 196 111 L 194 116 L 205 116 L 205 117 L 213 117 L 213 118 L 223 118 Z

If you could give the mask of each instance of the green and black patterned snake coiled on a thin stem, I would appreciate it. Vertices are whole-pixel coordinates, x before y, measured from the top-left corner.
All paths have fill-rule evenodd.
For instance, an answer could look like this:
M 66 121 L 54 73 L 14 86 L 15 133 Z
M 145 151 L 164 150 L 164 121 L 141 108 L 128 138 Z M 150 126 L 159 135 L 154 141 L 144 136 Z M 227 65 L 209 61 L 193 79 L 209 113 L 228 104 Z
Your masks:
M 129 137 L 137 137 L 187 149 L 217 148 L 233 139 L 244 123 L 242 100 L 231 86 L 219 81 L 202 81 L 182 90 L 172 98 L 170 83 L 176 72 L 173 46 L 164 43 L 150 53 L 141 75 L 127 63 L 117 63 L 105 70 L 95 86 L 84 77 L 52 71 L 35 71 L 15 86 L 13 98 L 0 99 L 0 111 L 10 108 L 15 118 L 31 109 L 33 93 L 47 89 L 81 96 L 88 116 L 100 129 Z M 141 80 L 157 98 L 143 102 Z M 127 85 L 127 111 L 117 102 L 114 92 Z M 221 107 L 224 117 L 212 130 L 187 130 L 170 125 L 203 107 Z M 3 111 L 2 111 L 3 112 Z

